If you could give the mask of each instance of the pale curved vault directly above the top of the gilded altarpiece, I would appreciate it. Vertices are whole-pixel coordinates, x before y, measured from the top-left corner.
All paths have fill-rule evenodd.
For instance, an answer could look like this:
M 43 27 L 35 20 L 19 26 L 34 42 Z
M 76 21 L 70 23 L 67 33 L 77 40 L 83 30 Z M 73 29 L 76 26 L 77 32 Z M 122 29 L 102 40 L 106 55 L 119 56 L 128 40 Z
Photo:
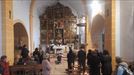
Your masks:
M 51 6 L 60 2 L 61 4 L 71 8 L 72 12 L 76 16 L 85 15 L 85 2 L 86 0 L 36 0 L 35 7 L 37 8 L 38 14 L 42 14 L 47 6 Z

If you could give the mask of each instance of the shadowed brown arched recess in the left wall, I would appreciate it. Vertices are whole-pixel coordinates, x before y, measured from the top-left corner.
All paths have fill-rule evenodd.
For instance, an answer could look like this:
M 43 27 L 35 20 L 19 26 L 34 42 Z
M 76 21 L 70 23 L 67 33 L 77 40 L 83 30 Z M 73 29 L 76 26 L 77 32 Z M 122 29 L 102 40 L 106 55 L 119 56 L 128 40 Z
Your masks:
M 14 29 L 14 56 L 16 62 L 18 56 L 20 56 L 20 47 L 22 47 L 24 44 L 26 44 L 28 47 L 29 42 L 28 42 L 28 34 L 23 23 L 21 22 L 14 23 L 13 29 Z

